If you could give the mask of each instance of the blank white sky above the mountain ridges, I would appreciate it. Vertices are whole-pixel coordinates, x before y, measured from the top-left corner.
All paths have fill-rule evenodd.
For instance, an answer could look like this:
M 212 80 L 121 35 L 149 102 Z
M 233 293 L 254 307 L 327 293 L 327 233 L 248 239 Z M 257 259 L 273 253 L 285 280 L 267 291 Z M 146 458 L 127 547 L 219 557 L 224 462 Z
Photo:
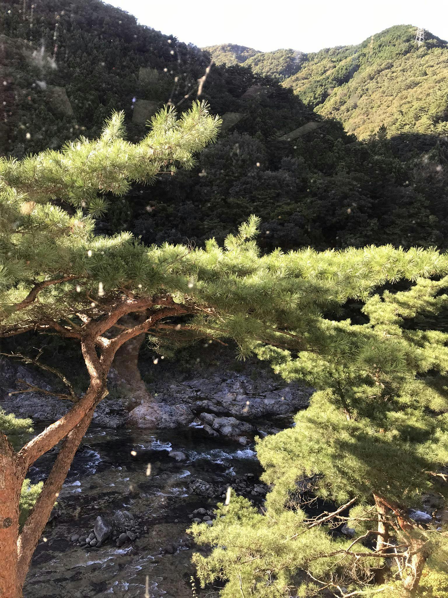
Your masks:
M 142 25 L 198 46 L 312 52 L 358 44 L 392 25 L 416 25 L 448 39 L 447 0 L 109 0 Z

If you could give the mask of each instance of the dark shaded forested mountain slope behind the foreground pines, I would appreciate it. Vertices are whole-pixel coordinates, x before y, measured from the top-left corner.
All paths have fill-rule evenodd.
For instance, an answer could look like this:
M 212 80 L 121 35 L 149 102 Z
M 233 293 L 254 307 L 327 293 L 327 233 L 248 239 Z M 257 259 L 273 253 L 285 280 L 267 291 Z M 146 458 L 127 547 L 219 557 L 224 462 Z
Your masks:
M 22 0 L 2 2 L 0 23 L 5 154 L 22 157 L 80 134 L 92 137 L 113 109 L 124 110 L 136 141 L 155 110 L 168 101 L 178 111 L 189 108 L 199 87 L 211 112 L 223 117 L 217 143 L 197 166 L 161 175 L 152 187 L 134 185 L 122 209 L 99 222 L 100 230 L 131 230 L 146 243 L 201 245 L 211 236 L 222 241 L 254 212 L 262 219 L 264 250 L 446 246 L 444 138 L 413 133 L 388 139 L 389 130 L 378 123 L 369 141 L 356 141 L 339 121 L 305 106 L 311 87 L 300 91 L 302 101 L 278 79 L 244 65 L 207 69 L 207 52 L 97 0 L 42 0 L 34 8 Z M 375 52 L 392 61 L 401 42 L 386 41 Z M 428 41 L 426 50 L 416 50 L 409 41 L 409 56 L 444 52 L 440 44 Z M 363 64 L 373 60 L 370 52 L 364 47 Z M 310 56 L 299 74 L 311 68 Z M 266 64 L 259 60 L 257 68 Z M 429 94 L 428 101 L 436 98 Z

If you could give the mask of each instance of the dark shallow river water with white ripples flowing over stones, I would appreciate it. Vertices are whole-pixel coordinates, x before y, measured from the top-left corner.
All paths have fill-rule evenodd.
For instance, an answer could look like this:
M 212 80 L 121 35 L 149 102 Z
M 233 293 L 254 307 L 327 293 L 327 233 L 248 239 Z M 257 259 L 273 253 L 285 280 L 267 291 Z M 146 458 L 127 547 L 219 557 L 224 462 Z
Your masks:
M 177 462 L 171 450 L 182 451 L 186 460 Z M 46 477 L 52 459 L 54 453 L 36 462 L 32 481 Z M 199 507 L 212 509 L 222 499 L 189 492 L 189 480 L 221 486 L 247 473 L 256 479 L 260 472 L 253 450 L 205 437 L 201 428 L 91 429 L 58 498 L 60 514 L 39 541 L 24 597 L 190 598 L 190 559 L 198 547 L 185 533 L 188 515 Z M 142 518 L 148 531 L 122 547 L 115 542 L 73 546 L 70 536 L 88 535 L 97 515 L 108 517 L 118 509 Z M 214 595 L 213 588 L 197 587 L 196 593 Z

